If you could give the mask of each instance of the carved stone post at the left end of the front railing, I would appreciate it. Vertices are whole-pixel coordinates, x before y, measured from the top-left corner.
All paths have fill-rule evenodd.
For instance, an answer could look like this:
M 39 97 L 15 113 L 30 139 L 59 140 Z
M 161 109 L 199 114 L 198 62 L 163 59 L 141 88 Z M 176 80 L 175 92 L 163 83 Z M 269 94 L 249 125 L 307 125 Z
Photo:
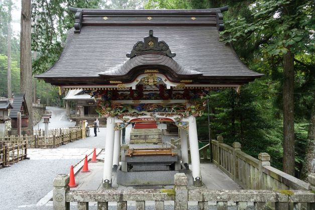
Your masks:
M 66 193 L 69 191 L 69 176 L 59 174 L 53 180 L 53 210 L 69 210 L 70 202 L 66 202 Z

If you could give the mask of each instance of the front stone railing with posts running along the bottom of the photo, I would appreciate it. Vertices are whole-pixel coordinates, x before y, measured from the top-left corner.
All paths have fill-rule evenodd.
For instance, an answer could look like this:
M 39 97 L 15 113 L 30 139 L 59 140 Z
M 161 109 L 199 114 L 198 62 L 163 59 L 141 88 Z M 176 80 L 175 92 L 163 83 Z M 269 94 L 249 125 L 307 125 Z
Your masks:
M 155 201 L 155 209 L 164 209 L 164 201 L 174 201 L 175 210 L 188 209 L 188 201 L 197 201 L 198 209 L 208 209 L 208 201 L 216 209 L 228 209 L 234 202 L 237 209 L 314 209 L 314 193 L 306 190 L 209 190 L 187 187 L 184 173 L 174 175 L 173 189 L 103 189 L 69 190 L 69 177 L 60 174 L 54 178 L 53 209 L 70 209 L 77 202 L 79 210 L 88 209 L 88 202 L 97 202 L 97 209 L 109 209 L 109 202 L 117 202 L 117 209 L 127 209 L 127 202 L 136 201 L 136 209 L 145 209 L 146 201 Z M 212 208 L 213 208 L 212 207 Z

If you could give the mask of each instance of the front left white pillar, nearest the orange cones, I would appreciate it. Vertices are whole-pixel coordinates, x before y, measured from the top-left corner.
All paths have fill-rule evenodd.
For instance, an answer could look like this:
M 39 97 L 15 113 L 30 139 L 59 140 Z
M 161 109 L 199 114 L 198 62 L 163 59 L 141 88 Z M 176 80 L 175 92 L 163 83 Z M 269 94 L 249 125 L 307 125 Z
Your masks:
M 106 141 L 105 141 L 105 157 L 103 169 L 103 187 L 112 187 L 113 172 L 113 154 L 114 154 L 114 136 L 115 136 L 115 117 L 107 118 Z

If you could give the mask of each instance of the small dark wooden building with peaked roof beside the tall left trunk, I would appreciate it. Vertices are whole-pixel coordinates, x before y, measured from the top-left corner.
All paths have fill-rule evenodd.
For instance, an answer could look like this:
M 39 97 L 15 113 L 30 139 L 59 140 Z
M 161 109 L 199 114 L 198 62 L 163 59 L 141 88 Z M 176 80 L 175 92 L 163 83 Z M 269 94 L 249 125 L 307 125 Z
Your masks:
M 21 133 L 27 134 L 27 128 L 29 124 L 29 111 L 26 105 L 24 93 L 13 93 L 12 111 L 10 112 L 11 118 L 11 135 L 17 135 L 18 131 L 18 112 L 21 113 Z

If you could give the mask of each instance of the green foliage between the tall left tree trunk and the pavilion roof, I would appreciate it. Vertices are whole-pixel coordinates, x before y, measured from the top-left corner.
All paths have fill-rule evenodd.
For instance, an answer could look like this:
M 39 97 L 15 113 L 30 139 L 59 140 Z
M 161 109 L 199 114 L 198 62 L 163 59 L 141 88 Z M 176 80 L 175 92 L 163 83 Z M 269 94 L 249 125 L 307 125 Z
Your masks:
M 74 25 L 68 7 L 100 8 L 101 0 L 34 0 L 32 2 L 32 50 L 38 52 L 33 73 L 47 71 L 59 58 L 67 31 Z

